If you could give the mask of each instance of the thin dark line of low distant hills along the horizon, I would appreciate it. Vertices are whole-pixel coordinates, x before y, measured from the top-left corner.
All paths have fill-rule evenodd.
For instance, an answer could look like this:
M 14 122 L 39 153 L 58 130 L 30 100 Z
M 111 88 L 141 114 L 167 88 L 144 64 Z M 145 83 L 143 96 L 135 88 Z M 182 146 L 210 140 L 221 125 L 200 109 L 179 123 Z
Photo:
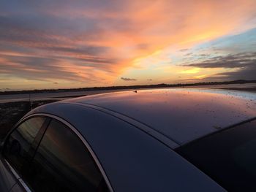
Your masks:
M 256 80 L 233 80 L 222 82 L 196 82 L 196 83 L 177 83 L 177 84 L 156 84 L 156 85 L 129 85 L 129 86 L 110 86 L 110 87 L 93 87 L 93 88 L 69 88 L 69 89 L 43 89 L 43 90 L 29 90 L 29 91 L 0 91 L 0 95 L 9 94 L 27 94 L 27 93 L 61 93 L 71 91 L 99 91 L 99 90 L 118 90 L 118 89 L 138 89 L 138 88 L 175 88 L 175 87 L 189 87 L 200 85 L 228 85 L 228 84 L 245 84 L 256 83 Z

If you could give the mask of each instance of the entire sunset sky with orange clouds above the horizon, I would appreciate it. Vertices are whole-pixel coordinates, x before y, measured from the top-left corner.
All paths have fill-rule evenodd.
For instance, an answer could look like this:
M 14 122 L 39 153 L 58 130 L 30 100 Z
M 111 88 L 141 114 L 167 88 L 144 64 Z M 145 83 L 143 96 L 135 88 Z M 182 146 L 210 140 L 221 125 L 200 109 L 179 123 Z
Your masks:
M 256 80 L 255 0 L 1 0 L 0 91 Z

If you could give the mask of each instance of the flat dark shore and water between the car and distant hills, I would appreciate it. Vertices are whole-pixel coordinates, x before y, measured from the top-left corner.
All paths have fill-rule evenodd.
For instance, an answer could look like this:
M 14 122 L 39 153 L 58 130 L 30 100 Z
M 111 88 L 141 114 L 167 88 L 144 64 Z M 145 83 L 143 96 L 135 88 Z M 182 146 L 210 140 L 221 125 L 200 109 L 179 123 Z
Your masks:
M 180 87 L 181 88 L 181 87 Z M 230 85 L 200 85 L 189 86 L 189 88 L 213 88 L 227 89 L 236 91 L 249 91 L 256 94 L 256 83 L 230 84 Z M 60 101 L 77 96 L 88 96 L 99 93 L 109 93 L 124 90 L 107 91 L 80 91 L 80 92 L 61 92 L 61 93 L 31 93 L 0 96 L 0 139 L 3 139 L 7 132 L 18 123 L 31 109 L 42 104 Z M 129 91 L 129 90 L 125 90 Z

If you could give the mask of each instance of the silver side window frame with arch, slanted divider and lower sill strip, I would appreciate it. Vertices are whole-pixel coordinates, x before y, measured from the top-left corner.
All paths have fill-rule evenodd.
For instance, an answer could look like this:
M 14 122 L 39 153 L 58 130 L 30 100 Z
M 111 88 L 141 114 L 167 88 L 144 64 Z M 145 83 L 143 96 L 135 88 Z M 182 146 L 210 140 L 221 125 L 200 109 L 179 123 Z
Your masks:
M 113 188 L 112 185 L 110 183 L 110 180 L 108 179 L 107 174 L 105 173 L 105 170 L 103 169 L 99 159 L 97 158 L 97 155 L 94 153 L 94 150 L 91 148 L 91 146 L 89 145 L 89 143 L 86 141 L 86 139 L 82 136 L 82 134 L 80 134 L 80 132 L 78 131 L 77 128 L 75 128 L 75 126 L 72 126 L 71 123 L 69 123 L 67 120 L 64 120 L 63 118 L 60 118 L 59 116 L 56 115 L 52 115 L 52 114 L 48 114 L 48 113 L 37 113 L 37 114 L 32 114 L 27 116 L 26 118 L 21 119 L 15 126 L 14 128 L 12 128 L 12 130 L 10 131 L 9 134 L 7 134 L 7 137 L 5 137 L 4 139 L 4 147 L 5 144 L 7 142 L 7 139 L 10 137 L 10 134 L 12 134 L 12 132 L 18 128 L 18 126 L 20 126 L 21 123 L 25 122 L 26 120 L 29 120 L 30 118 L 35 118 L 35 117 L 44 117 L 45 122 L 48 120 L 47 126 L 45 125 L 45 122 L 43 123 L 42 127 L 39 129 L 37 136 L 39 134 L 40 137 L 38 138 L 37 136 L 34 139 L 34 142 L 32 142 L 31 147 L 29 150 L 31 150 L 32 146 L 34 145 L 35 142 L 37 142 L 37 146 L 34 150 L 34 155 L 37 153 L 37 148 L 39 147 L 40 142 L 42 141 L 42 138 L 44 137 L 45 131 L 47 130 L 48 126 L 50 125 L 51 120 L 59 120 L 59 122 L 63 123 L 65 126 L 67 126 L 69 128 L 70 131 L 72 131 L 77 137 L 78 139 L 80 139 L 81 142 L 83 142 L 84 147 L 86 147 L 86 150 L 89 151 L 91 157 L 94 160 L 94 163 L 96 164 L 97 168 L 99 169 L 100 174 L 102 174 L 102 178 L 105 180 L 105 183 L 108 186 L 108 189 L 110 192 L 113 192 Z M 35 147 L 35 146 L 33 146 Z M 31 158 L 32 160 L 34 159 L 34 155 L 33 158 Z M 10 167 L 11 172 L 15 175 L 15 177 L 17 178 L 18 182 L 23 185 L 23 188 L 26 191 L 31 191 L 31 189 L 29 188 L 28 185 L 26 185 L 26 183 L 22 180 L 22 178 L 20 177 L 20 175 L 15 172 L 15 169 L 13 169 L 13 167 L 8 163 L 8 161 L 4 158 L 4 161 L 6 161 L 7 165 Z

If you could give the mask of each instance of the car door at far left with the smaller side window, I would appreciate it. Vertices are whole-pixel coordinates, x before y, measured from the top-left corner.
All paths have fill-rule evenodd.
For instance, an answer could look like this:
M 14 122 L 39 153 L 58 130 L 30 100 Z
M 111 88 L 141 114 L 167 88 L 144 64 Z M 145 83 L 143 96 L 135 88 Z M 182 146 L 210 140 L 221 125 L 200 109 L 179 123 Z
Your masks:
M 10 191 L 15 183 L 22 183 L 24 166 L 33 157 L 32 145 L 35 144 L 39 130 L 47 118 L 31 117 L 18 124 L 5 139 L 0 161 L 0 191 Z

